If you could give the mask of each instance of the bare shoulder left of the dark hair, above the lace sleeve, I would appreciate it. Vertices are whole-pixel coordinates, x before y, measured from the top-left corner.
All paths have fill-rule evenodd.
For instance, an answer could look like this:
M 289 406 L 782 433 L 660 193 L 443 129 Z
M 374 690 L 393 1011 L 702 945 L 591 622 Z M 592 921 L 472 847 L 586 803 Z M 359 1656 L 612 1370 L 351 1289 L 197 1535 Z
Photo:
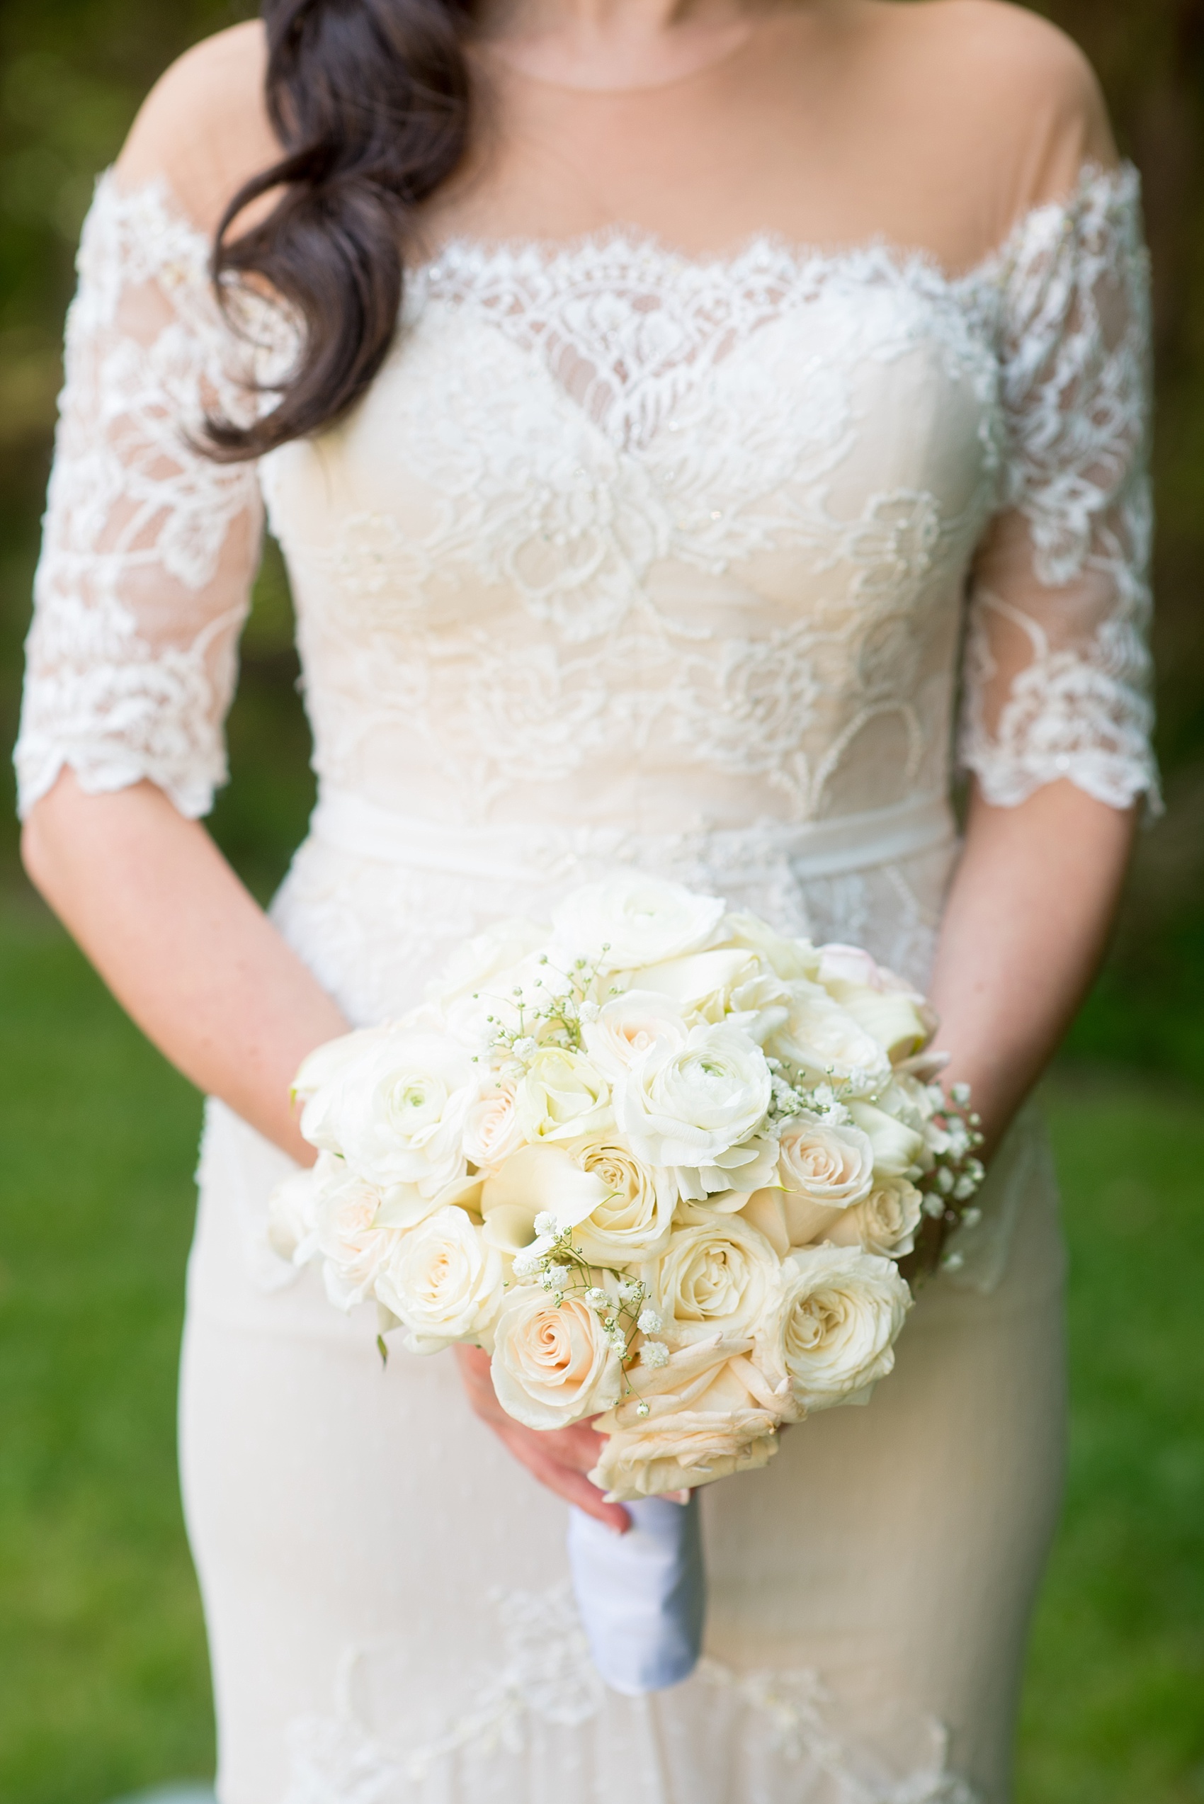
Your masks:
M 280 155 L 264 103 L 267 45 L 258 20 L 206 38 L 159 78 L 134 121 L 117 175 L 162 180 L 206 233 L 229 197 Z

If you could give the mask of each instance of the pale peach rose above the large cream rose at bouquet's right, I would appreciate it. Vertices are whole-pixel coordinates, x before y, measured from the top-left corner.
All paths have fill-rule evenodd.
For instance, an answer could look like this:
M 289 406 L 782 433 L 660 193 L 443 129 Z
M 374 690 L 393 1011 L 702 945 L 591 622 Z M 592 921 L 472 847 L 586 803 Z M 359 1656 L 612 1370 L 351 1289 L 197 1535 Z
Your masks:
M 776 1176 L 773 1189 L 749 1198 L 744 1214 L 785 1257 L 791 1247 L 823 1239 L 870 1194 L 874 1147 L 859 1128 L 796 1117 L 782 1129 Z

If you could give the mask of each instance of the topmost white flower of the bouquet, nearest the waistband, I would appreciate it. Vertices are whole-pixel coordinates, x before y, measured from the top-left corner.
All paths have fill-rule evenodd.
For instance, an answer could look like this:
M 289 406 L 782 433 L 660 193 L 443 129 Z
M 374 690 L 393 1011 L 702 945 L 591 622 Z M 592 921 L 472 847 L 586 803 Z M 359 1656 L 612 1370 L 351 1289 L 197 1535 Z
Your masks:
M 623 871 L 565 897 L 552 913 L 554 945 L 565 958 L 601 962 L 605 971 L 639 971 L 695 953 L 722 915 L 717 897 Z

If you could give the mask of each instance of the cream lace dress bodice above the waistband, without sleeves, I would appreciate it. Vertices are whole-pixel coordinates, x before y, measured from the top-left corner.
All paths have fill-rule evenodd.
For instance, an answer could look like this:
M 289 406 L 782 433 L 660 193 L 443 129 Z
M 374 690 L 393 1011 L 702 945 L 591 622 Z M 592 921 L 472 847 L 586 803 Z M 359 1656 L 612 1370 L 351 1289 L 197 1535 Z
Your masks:
M 940 792 L 996 292 L 884 249 L 448 247 L 356 415 L 264 462 L 321 778 L 641 832 Z

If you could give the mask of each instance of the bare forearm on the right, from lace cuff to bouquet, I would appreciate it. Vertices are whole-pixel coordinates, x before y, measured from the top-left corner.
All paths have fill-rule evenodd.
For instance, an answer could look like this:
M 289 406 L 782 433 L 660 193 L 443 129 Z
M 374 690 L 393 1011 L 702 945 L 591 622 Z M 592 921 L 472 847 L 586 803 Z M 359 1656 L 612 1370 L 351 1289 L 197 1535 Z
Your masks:
M 1132 808 L 1072 783 L 1014 808 L 973 794 L 931 1001 L 948 1077 L 971 1084 L 987 1158 L 1099 967 L 1132 837 Z

